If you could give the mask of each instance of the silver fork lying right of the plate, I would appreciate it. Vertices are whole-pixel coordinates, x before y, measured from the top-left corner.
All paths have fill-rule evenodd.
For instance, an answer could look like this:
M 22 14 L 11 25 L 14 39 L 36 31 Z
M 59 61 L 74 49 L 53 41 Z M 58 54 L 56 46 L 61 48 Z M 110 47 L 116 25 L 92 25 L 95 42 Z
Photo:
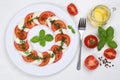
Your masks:
M 80 51 L 79 51 L 78 62 L 77 62 L 77 70 L 81 69 L 81 48 L 82 48 L 83 33 L 85 29 L 86 29 L 86 19 L 80 18 L 79 24 L 78 24 L 78 30 L 80 32 Z

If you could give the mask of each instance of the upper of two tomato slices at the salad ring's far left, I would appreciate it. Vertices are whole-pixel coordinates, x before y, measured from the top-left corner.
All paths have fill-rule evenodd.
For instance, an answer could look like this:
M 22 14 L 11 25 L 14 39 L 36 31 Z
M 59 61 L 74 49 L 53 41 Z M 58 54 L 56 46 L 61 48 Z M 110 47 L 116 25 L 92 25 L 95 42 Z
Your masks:
M 20 40 L 24 40 L 27 38 L 27 33 L 25 31 L 22 31 L 18 28 L 18 26 L 15 27 L 15 35 L 20 39 Z

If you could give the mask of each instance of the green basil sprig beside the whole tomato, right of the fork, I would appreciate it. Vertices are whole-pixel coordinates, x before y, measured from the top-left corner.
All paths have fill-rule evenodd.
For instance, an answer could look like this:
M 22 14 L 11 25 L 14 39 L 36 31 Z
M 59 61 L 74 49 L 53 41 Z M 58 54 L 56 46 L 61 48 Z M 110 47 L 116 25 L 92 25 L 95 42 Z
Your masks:
M 98 51 L 100 51 L 106 43 L 110 48 L 117 48 L 117 43 L 113 40 L 114 38 L 113 27 L 109 26 L 106 30 L 103 29 L 102 27 L 99 27 L 98 36 L 100 38 L 97 46 Z

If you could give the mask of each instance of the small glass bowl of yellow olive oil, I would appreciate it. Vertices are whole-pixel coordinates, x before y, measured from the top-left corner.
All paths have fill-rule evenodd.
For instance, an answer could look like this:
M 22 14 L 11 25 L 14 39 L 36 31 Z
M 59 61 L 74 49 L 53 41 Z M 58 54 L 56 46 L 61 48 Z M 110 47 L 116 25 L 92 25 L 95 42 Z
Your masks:
M 104 26 L 110 18 L 110 10 L 105 5 L 98 5 L 90 11 L 88 19 L 94 26 Z

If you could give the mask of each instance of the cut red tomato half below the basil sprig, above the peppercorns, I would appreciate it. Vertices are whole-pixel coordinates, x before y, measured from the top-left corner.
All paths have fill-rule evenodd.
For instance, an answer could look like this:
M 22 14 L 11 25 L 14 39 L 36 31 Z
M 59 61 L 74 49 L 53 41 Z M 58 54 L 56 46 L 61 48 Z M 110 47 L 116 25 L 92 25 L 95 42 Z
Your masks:
M 112 48 L 108 48 L 104 51 L 104 56 L 108 59 L 115 59 L 116 54 L 116 51 Z

